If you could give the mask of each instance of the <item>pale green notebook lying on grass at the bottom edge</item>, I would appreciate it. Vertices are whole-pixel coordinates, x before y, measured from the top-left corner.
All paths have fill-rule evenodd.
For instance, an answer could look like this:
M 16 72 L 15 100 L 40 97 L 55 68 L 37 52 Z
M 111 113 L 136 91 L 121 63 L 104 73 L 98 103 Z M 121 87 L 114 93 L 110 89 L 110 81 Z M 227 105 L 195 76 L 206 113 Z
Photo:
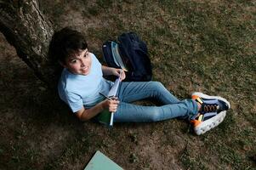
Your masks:
M 93 158 L 88 162 L 84 170 L 123 170 L 117 163 L 105 156 L 99 150 L 96 151 Z

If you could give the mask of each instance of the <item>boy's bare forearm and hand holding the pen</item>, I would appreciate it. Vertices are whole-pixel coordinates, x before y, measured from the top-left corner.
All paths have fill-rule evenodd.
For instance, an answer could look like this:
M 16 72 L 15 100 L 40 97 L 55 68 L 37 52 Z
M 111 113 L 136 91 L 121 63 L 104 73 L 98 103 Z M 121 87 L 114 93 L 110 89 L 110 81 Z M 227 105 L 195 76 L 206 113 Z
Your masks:
M 113 100 L 105 99 L 101 101 L 99 104 L 94 105 L 94 107 L 90 109 L 85 109 L 82 106 L 82 109 L 76 112 L 76 116 L 81 121 L 88 121 L 89 119 L 98 115 L 104 109 L 108 109 L 111 112 L 116 112 L 118 104 L 119 104 L 119 101 L 117 99 L 113 99 Z

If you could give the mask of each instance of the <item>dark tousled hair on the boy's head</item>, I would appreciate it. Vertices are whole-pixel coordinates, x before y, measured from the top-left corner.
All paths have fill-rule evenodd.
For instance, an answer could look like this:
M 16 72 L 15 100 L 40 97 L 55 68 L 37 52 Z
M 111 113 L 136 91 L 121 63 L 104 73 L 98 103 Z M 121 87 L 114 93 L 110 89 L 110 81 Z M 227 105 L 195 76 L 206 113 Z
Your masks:
M 65 59 L 77 55 L 88 48 L 85 37 L 81 32 L 65 27 L 56 31 L 49 44 L 48 54 L 54 61 L 65 64 Z

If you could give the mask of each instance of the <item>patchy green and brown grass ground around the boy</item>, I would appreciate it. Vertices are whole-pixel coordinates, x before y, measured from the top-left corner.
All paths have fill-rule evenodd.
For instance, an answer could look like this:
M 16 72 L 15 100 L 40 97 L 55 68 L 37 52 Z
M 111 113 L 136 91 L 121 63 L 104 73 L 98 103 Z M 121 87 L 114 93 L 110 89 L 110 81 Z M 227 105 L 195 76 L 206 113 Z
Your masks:
M 89 49 L 101 61 L 103 42 L 117 39 L 124 31 L 135 31 L 149 48 L 154 80 L 180 99 L 190 97 L 193 91 L 219 94 L 230 100 L 231 109 L 219 127 L 199 137 L 188 131 L 186 122 L 178 120 L 117 124 L 109 130 L 92 122 L 78 122 L 54 94 L 38 88 L 43 84 L 37 78 L 24 76 L 30 71 L 20 73 L 25 66 L 4 61 L 0 85 L 9 93 L 2 90 L 0 108 L 3 120 L 12 123 L 0 124 L 1 135 L 7 135 L 0 141 L 0 164 L 7 169 L 82 169 L 95 150 L 102 150 L 126 169 L 157 169 L 156 165 L 160 169 L 255 169 L 255 3 L 214 2 L 42 3 L 56 30 L 72 25 L 83 31 Z M 13 119 L 9 111 L 14 112 Z M 54 127 L 55 131 L 49 131 Z M 31 147 L 42 140 L 46 130 L 53 139 L 47 136 L 48 142 Z M 49 149 L 42 150 L 40 144 Z M 156 161 L 146 146 L 151 150 L 156 147 Z

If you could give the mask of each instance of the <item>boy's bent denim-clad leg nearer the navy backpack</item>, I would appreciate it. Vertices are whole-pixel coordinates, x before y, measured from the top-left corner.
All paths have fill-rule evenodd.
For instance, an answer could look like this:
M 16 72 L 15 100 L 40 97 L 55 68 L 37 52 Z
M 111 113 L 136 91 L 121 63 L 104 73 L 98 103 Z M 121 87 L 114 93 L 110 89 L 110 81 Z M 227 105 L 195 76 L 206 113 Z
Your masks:
M 175 104 L 175 98 L 161 82 L 122 82 L 118 98 L 123 102 L 133 102 L 140 99 L 156 99 L 162 105 Z

